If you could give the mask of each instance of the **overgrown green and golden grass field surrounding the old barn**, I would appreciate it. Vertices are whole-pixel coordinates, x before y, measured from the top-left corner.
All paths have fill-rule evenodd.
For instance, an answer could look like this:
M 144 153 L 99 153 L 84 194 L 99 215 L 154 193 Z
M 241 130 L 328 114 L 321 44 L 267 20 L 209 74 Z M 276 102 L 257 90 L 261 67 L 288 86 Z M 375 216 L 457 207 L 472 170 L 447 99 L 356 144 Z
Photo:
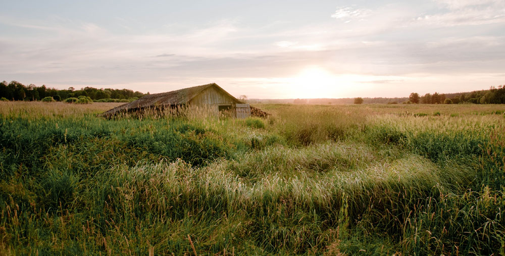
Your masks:
M 499 105 L 0 102 L 0 254 L 505 255 Z

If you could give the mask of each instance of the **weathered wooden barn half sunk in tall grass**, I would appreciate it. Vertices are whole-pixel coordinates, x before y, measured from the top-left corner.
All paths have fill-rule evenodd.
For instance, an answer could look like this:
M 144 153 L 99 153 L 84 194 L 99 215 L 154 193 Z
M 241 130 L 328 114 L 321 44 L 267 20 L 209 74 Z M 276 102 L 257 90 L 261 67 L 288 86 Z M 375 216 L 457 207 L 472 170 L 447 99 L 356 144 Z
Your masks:
M 210 83 L 145 95 L 131 103 L 106 111 L 102 116 L 113 117 L 121 113 L 134 113 L 144 109 L 175 109 L 182 106 L 206 107 L 215 111 L 216 114 L 227 113 L 237 118 L 251 116 L 251 109 L 254 116 L 265 117 L 268 115 L 233 97 L 216 83 Z

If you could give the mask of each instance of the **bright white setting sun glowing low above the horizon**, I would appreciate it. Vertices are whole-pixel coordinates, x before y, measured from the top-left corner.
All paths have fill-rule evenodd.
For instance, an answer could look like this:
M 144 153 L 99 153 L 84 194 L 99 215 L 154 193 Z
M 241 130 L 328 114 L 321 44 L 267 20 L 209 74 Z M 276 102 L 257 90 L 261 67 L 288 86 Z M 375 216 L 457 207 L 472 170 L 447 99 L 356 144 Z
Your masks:
M 292 78 L 292 94 L 299 98 L 324 98 L 333 94 L 338 78 L 319 66 L 308 66 Z

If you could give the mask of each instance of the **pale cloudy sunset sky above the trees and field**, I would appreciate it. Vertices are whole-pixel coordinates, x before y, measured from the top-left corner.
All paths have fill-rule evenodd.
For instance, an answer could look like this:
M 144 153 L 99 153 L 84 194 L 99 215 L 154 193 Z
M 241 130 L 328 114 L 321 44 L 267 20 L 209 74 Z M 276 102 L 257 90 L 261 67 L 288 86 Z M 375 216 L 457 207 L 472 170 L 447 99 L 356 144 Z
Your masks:
M 505 0 L 2 1 L 0 80 L 248 98 L 505 84 Z

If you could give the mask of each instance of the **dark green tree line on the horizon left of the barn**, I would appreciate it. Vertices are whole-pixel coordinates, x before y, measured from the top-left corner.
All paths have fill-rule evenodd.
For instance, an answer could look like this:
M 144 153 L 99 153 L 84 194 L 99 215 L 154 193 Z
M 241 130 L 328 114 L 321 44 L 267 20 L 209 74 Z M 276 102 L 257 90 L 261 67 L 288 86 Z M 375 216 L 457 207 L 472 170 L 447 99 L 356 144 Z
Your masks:
M 148 94 L 148 92 L 147 92 Z M 144 96 L 145 94 L 139 91 L 130 89 L 112 89 L 112 88 L 93 88 L 84 87 L 76 90 L 74 87 L 68 89 L 55 89 L 48 88 L 45 85 L 35 86 L 29 84 L 28 86 L 17 82 L 11 81 L 7 83 L 3 81 L 0 83 L 0 98 L 8 100 L 41 100 L 45 97 L 53 97 L 55 100 L 65 100 L 70 97 L 88 96 L 93 100 L 106 100 L 106 99 L 136 99 Z

